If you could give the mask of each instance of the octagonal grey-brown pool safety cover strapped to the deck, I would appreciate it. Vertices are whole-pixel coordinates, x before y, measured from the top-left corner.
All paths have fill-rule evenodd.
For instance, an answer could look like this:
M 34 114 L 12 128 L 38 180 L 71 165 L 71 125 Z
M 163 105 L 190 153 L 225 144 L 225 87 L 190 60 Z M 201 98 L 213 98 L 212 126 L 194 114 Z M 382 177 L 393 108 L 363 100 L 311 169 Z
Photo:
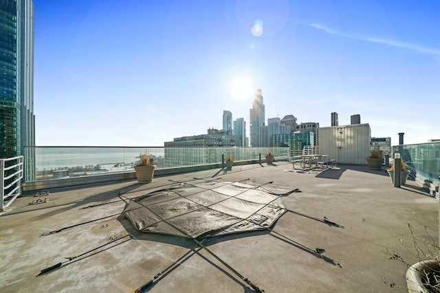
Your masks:
M 269 228 L 286 212 L 281 196 L 245 183 L 192 182 L 132 198 L 123 213 L 138 231 L 188 238 Z

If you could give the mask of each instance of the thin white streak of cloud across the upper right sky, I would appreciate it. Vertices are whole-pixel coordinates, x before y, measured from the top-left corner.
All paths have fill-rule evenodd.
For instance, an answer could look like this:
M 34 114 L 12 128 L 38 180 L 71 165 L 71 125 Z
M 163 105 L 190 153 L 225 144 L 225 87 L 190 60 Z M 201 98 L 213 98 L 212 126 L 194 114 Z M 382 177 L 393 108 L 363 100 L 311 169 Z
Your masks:
M 318 25 L 316 23 L 304 23 L 304 24 L 308 25 L 309 27 L 314 27 L 317 30 L 322 30 L 324 32 L 327 32 L 328 34 L 336 34 L 338 36 L 343 36 L 345 38 L 355 38 L 356 40 L 366 40 L 367 42 L 371 42 L 371 43 L 380 43 L 380 44 L 384 44 L 384 45 L 388 45 L 388 46 L 410 49 L 412 51 L 417 51 L 419 53 L 434 55 L 434 56 L 436 56 L 437 60 L 440 58 L 439 57 L 440 56 L 439 49 L 433 49 L 433 48 L 423 47 L 423 46 L 419 46 L 419 45 L 412 45 L 412 44 L 408 44 L 408 43 L 395 42 L 394 40 L 386 40 L 384 38 L 374 38 L 371 36 L 356 36 L 353 34 L 345 34 L 343 32 L 331 30 L 329 27 L 325 27 L 324 25 Z

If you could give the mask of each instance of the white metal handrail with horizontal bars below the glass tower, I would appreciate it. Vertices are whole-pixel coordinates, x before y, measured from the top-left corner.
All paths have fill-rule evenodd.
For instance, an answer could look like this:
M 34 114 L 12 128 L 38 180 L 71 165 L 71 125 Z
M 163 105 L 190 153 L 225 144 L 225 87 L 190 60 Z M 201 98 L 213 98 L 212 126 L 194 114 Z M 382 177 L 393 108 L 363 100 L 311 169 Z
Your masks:
M 16 163 L 5 167 L 6 162 Z M 3 211 L 21 194 L 21 179 L 23 178 L 23 156 L 0 159 L 0 211 Z M 13 172 L 8 172 L 14 170 Z M 14 180 L 10 180 L 14 178 Z

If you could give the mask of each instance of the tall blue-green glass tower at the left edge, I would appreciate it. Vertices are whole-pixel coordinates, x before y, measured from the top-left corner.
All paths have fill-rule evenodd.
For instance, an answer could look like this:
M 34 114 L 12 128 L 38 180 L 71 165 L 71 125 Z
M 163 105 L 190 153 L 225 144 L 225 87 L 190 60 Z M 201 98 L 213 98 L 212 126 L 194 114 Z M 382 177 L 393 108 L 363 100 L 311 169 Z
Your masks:
M 1 0 L 0 23 L 0 158 L 10 158 L 35 145 L 34 3 Z

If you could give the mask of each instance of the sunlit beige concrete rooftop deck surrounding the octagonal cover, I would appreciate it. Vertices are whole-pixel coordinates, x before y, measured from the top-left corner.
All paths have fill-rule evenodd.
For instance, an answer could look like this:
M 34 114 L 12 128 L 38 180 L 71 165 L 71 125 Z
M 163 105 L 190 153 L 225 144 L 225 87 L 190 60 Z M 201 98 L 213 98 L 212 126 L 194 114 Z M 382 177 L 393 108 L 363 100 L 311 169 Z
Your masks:
M 0 216 L 0 291 L 134 292 L 178 261 L 146 292 L 254 292 L 191 239 L 137 233 L 120 215 L 125 203 L 117 201 L 119 193 L 133 198 L 170 185 L 170 180 L 194 178 L 249 179 L 255 185 L 273 181 L 265 189 L 277 194 L 296 188 L 302 191 L 283 197 L 283 202 L 287 209 L 304 215 L 285 213 L 272 226 L 274 232 L 214 237 L 204 243 L 266 293 L 408 292 L 406 266 L 389 260 L 384 251 L 395 251 L 408 263 L 417 262 L 410 253 L 415 250 L 408 222 L 417 237 L 427 236 L 423 225 L 428 225 L 432 237 L 438 239 L 438 200 L 413 181 L 400 189 L 393 187 L 384 170 L 341 165 L 319 173 L 293 172 L 292 165 L 285 162 L 241 165 L 232 171 L 211 169 L 156 177 L 146 185 L 128 180 L 54 189 L 46 196 L 49 202 L 41 204 L 29 204 L 41 199 L 33 197 L 35 193 L 17 198 L 10 211 Z M 117 202 L 82 209 L 112 201 Z M 324 217 L 344 228 L 319 221 Z M 98 249 L 86 253 L 94 248 Z M 324 248 L 322 255 L 340 266 L 311 253 L 316 248 Z M 78 255 L 71 261 L 65 259 Z M 35 277 L 60 262 L 61 268 Z M 390 288 L 382 279 L 402 287 Z

